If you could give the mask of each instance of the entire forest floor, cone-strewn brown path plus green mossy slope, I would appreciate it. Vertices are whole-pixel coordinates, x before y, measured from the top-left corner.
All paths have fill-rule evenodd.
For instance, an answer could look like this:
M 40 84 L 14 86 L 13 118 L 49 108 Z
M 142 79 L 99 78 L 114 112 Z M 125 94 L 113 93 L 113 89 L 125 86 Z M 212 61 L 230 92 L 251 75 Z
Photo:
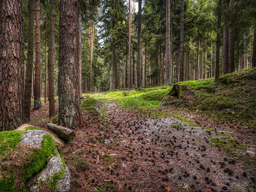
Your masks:
M 182 83 L 164 104 L 172 86 L 86 93 L 62 149 L 70 190 L 255 191 L 256 68 Z M 31 124 L 58 123 L 48 111 L 32 102 Z

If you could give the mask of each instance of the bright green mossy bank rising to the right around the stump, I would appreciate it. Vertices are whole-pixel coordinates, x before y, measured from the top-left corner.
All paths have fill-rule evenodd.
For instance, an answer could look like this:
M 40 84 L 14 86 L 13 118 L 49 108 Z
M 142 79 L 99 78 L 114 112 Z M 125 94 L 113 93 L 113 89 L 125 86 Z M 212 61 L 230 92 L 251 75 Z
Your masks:
M 214 119 L 240 122 L 244 126 L 255 127 L 256 117 L 256 68 L 235 71 L 220 78 L 179 82 L 187 85 L 180 98 L 171 98 L 164 105 L 179 107 L 191 112 L 202 112 Z M 172 86 L 148 87 L 141 90 L 127 89 L 115 92 L 93 94 L 100 100 L 113 101 L 125 108 L 159 108 L 158 104 Z

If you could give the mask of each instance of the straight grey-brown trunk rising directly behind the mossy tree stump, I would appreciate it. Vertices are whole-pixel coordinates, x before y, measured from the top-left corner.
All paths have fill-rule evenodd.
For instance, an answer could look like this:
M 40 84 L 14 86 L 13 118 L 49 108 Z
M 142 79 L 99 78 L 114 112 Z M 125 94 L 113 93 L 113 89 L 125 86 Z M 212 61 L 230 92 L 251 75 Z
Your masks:
M 184 81 L 184 0 L 181 0 L 181 30 L 180 30 L 180 81 Z

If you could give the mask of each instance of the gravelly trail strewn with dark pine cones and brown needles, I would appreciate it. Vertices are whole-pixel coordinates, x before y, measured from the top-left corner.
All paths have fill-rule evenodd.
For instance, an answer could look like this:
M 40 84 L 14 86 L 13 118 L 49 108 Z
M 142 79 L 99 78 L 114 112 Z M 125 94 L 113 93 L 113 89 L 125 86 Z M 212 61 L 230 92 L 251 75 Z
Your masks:
M 176 191 L 179 184 L 195 191 L 254 191 L 248 186 L 255 183 L 255 164 L 240 160 L 255 155 L 246 154 L 241 135 L 177 118 L 145 118 L 114 103 L 100 101 L 99 106 L 119 132 L 120 146 L 133 151 L 121 157 L 129 160 L 122 177 L 133 191 Z M 232 150 L 240 157 L 228 154 Z

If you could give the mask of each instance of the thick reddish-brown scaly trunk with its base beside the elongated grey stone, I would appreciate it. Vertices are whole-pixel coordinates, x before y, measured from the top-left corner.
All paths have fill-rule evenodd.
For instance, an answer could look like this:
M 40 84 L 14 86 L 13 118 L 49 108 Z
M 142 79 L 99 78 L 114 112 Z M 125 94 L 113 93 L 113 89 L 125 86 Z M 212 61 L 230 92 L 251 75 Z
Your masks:
M 60 1 L 59 124 L 84 124 L 77 81 L 77 0 Z

